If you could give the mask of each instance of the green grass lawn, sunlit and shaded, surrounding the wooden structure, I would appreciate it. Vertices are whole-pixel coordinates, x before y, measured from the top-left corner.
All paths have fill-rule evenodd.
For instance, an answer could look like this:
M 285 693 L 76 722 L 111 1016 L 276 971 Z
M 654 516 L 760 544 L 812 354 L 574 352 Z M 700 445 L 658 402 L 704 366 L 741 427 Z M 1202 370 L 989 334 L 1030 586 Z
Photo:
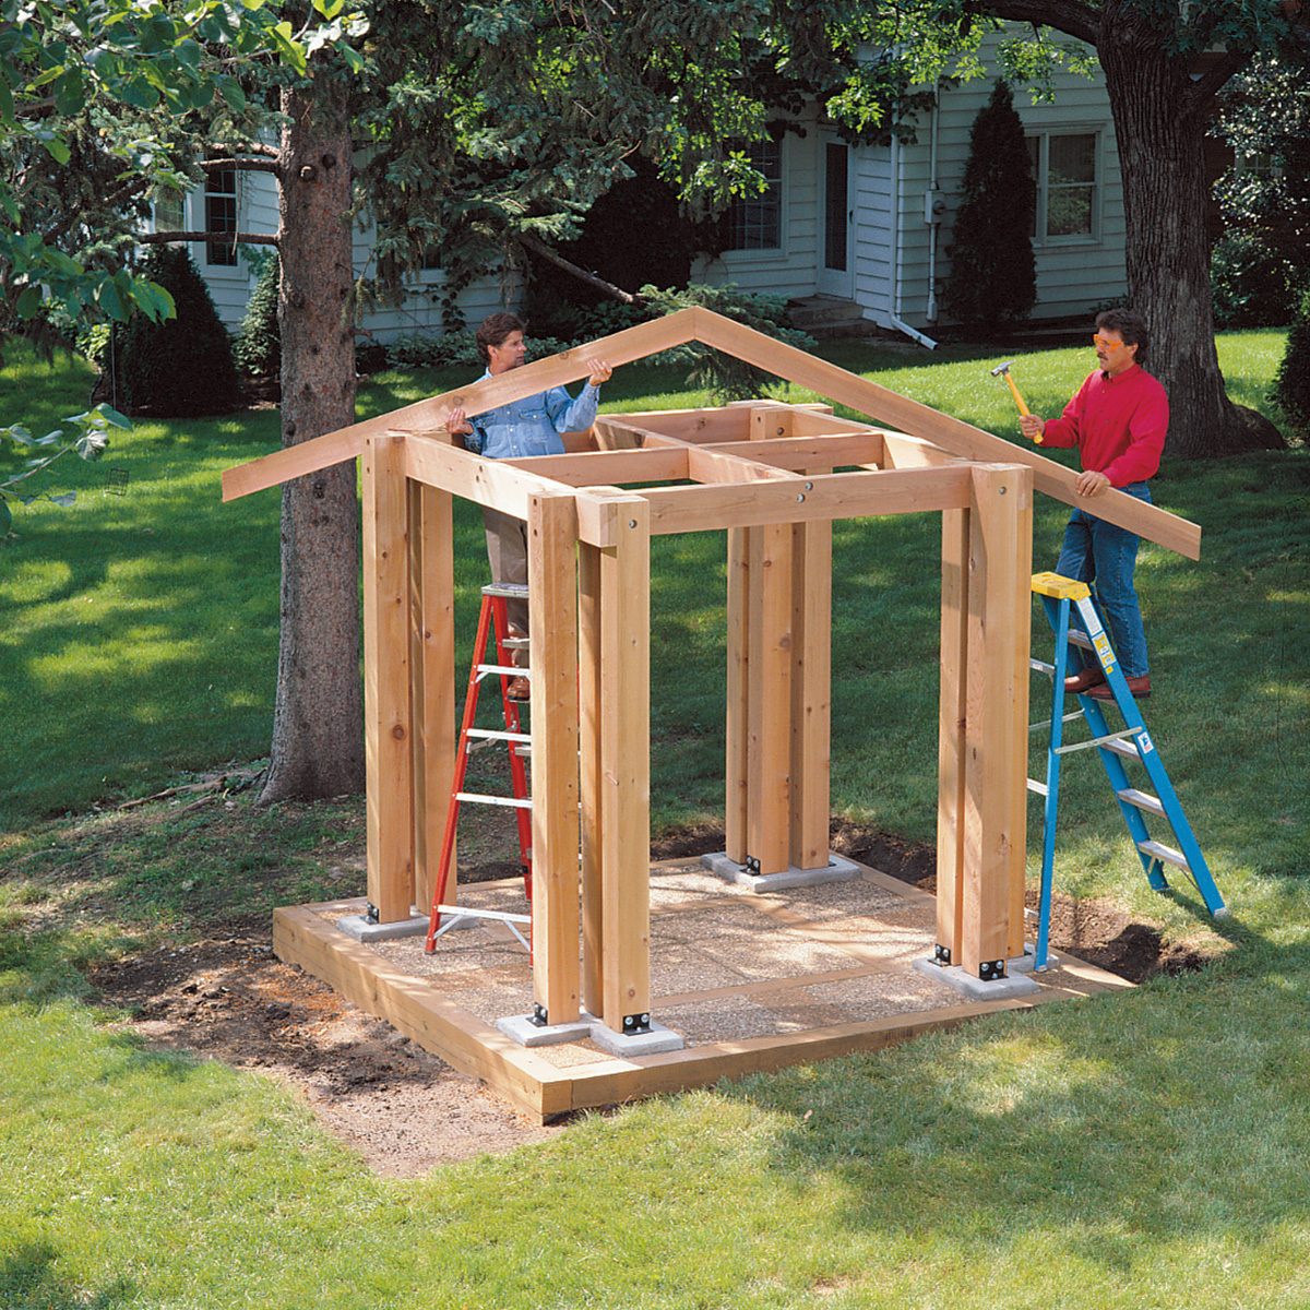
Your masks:
M 1265 405 L 1281 343 L 1221 339 L 1237 398 Z M 828 354 L 1014 434 L 986 373 L 1000 355 Z M 1087 354 L 1023 356 L 1034 409 L 1066 398 Z M 453 381 L 383 376 L 360 410 Z M 86 384 L 16 352 L 0 414 L 54 426 Z M 702 400 L 651 368 L 605 390 L 610 409 Z M 22 511 L 0 546 L 0 1306 L 1310 1303 L 1305 451 L 1166 465 L 1157 502 L 1203 525 L 1203 559 L 1144 548 L 1138 566 L 1159 688 L 1148 722 L 1234 907 L 1218 963 L 394 1183 L 274 1083 L 107 1024 L 80 972 L 233 907 L 355 889 L 333 853 L 358 841 L 356 802 L 237 796 L 221 821 L 179 810 L 140 825 L 86 812 L 266 749 L 276 496 L 224 507 L 219 474 L 275 443 L 272 413 L 139 424 L 106 456 L 128 470 L 126 496 L 100 490 L 105 465 L 79 464 L 58 486 L 77 504 Z M 1065 515 L 1039 500 L 1040 566 Z M 485 555 L 466 507 L 457 531 L 468 633 Z M 930 840 L 937 523 L 842 523 L 836 541 L 833 806 Z M 722 538 L 656 544 L 662 827 L 722 804 Z M 1073 757 L 1065 778 L 1061 888 L 1203 933 L 1195 893 L 1146 889 L 1095 762 Z

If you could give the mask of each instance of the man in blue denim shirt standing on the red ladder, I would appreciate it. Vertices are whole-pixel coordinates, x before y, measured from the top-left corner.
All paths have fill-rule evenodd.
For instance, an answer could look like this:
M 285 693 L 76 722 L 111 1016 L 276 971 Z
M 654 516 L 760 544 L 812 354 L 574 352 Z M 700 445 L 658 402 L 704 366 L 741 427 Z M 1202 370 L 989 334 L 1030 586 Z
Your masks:
M 496 377 L 511 368 L 519 368 L 528 356 L 523 339 L 524 324 L 516 314 L 491 314 L 482 320 L 477 333 L 478 348 L 487 371 L 478 379 Z M 532 455 L 563 455 L 562 432 L 586 431 L 596 421 L 600 403 L 600 385 L 609 381 L 610 367 L 600 359 L 587 362 L 591 376 L 576 400 L 562 386 L 529 396 L 521 401 L 500 405 L 477 418 L 469 419 L 462 409 L 451 410 L 445 430 L 464 439 L 464 444 L 489 460 L 517 460 Z M 487 558 L 495 582 L 525 583 L 528 580 L 528 525 L 521 519 L 482 510 L 486 525 Z M 510 616 L 510 635 L 527 637 L 527 601 L 506 603 Z M 527 651 L 514 652 L 515 664 L 527 664 Z M 510 681 L 510 697 L 528 700 L 528 680 Z

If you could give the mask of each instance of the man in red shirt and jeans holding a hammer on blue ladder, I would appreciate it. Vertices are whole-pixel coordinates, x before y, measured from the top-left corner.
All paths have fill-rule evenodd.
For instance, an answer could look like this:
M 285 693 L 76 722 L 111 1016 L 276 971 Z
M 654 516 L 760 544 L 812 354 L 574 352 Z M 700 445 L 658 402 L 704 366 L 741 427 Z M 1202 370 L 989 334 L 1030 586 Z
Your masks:
M 1030 440 L 1044 445 L 1078 447 L 1082 473 L 1078 495 L 1087 499 L 1115 487 L 1150 503 L 1146 479 L 1159 468 L 1169 432 L 1169 397 L 1165 388 L 1141 365 L 1149 337 L 1146 322 L 1129 309 L 1107 309 L 1096 316 L 1096 369 L 1078 388 L 1060 418 L 1044 421 L 1036 414 L 1019 421 Z M 1096 605 L 1128 689 L 1150 696 L 1146 633 L 1141 605 L 1133 587 L 1137 566 L 1136 533 L 1074 510 L 1065 528 L 1056 572 L 1094 584 Z M 1106 676 L 1095 662 L 1065 679 L 1065 690 L 1086 692 L 1110 700 Z

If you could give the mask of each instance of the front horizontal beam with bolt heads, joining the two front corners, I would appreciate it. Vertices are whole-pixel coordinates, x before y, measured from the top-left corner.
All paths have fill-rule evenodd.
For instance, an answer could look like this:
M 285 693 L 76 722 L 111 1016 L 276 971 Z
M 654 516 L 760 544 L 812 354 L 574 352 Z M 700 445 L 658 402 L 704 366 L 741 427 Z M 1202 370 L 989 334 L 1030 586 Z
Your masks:
M 642 491 L 651 507 L 651 534 L 711 532 L 766 523 L 858 519 L 883 514 L 963 510 L 969 503 L 968 466 L 904 472 L 827 473 L 785 482 L 655 487 Z M 588 520 L 579 494 L 578 529 Z

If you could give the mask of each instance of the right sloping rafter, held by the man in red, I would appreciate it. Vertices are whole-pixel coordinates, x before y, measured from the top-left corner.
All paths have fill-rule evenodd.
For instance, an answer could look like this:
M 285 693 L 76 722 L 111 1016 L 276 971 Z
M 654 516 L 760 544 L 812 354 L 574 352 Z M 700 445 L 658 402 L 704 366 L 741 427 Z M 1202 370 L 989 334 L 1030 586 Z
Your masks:
M 815 359 L 795 346 L 766 337 L 753 328 L 735 324 L 713 310 L 696 307 L 688 313 L 697 316 L 696 338 L 707 346 L 755 364 L 756 368 L 786 377 L 800 386 L 808 386 L 821 396 L 889 423 L 912 436 L 926 438 L 954 455 L 985 462 L 1027 465 L 1032 469 L 1036 489 L 1056 500 L 1095 514 L 1098 519 L 1136 532 L 1148 541 L 1176 550 L 1188 559 L 1201 557 L 1201 529 L 1187 519 L 1180 519 L 1158 506 L 1144 504 L 1123 491 L 1102 491 L 1095 498 L 1081 496 L 1074 490 L 1078 474 L 1053 460 L 912 401 L 907 396 L 899 396 L 827 360 Z M 651 531 L 658 531 L 654 520 Z

